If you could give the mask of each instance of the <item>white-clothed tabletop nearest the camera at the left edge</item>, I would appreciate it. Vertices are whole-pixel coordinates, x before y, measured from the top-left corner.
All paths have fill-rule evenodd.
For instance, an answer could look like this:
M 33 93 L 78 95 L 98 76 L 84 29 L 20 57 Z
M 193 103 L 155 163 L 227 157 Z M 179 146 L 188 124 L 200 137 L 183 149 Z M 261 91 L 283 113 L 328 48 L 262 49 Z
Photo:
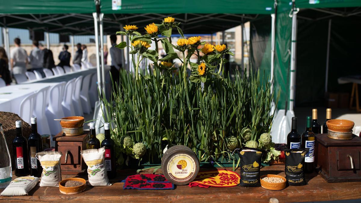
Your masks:
M 44 87 L 58 84 L 53 83 L 33 83 L 9 85 L 0 88 L 0 111 L 12 112 L 19 114 L 21 101 L 31 93 L 34 93 Z

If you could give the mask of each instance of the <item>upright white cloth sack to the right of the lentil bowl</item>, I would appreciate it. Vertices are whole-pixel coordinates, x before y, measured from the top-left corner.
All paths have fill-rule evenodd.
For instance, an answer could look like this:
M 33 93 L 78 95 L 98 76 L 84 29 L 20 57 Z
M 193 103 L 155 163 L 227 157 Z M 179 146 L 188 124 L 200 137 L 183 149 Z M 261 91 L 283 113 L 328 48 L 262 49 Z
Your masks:
M 105 147 L 100 149 L 83 150 L 81 152 L 85 163 L 88 166 L 88 180 L 91 186 L 109 186 L 108 176 L 106 175 Z

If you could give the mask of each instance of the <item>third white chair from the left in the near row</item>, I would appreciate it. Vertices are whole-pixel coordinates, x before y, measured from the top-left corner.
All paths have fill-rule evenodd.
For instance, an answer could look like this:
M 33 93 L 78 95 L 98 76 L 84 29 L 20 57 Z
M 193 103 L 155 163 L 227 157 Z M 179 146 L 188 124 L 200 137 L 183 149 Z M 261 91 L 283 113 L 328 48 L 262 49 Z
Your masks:
M 62 99 L 64 96 L 64 88 L 66 82 L 58 83 L 50 87 L 49 96 L 48 96 L 48 108 L 45 109 L 45 115 L 48 119 L 48 124 L 51 126 L 51 146 L 55 146 L 55 141 L 53 141 L 53 137 L 61 132 L 61 126 L 59 121 L 54 121 L 56 118 L 64 118 L 64 112 L 62 109 Z

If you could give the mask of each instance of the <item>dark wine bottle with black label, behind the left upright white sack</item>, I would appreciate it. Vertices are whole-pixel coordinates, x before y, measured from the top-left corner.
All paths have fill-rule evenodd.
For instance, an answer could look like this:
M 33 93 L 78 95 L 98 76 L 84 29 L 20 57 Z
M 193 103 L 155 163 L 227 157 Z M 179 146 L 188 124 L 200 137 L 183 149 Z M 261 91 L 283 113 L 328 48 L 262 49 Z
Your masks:
M 31 117 L 31 134 L 27 140 L 27 148 L 29 149 L 30 176 L 40 177 L 43 169 L 35 155 L 43 151 L 43 141 L 42 136 L 38 133 L 36 117 Z

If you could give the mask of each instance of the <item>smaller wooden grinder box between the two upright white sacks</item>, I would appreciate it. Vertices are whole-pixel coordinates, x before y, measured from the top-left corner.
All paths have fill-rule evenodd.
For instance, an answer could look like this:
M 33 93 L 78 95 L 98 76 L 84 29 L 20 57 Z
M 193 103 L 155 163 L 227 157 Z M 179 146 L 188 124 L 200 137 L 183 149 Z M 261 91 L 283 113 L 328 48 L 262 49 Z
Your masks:
M 86 171 L 86 164 L 80 154 L 86 150 L 86 143 L 89 139 L 90 131 L 84 130 L 82 135 L 64 136 L 58 133 L 54 138 L 55 150 L 62 153 L 60 159 L 61 174 L 78 175 Z

